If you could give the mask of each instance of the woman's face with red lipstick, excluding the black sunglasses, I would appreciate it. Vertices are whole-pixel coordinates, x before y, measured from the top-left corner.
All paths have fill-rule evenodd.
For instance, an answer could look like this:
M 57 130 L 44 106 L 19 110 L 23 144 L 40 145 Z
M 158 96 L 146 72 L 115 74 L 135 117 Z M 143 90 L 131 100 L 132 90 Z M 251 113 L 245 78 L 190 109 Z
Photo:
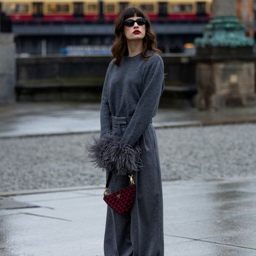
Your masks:
M 137 20 L 139 18 L 142 18 L 142 17 L 133 16 L 126 20 Z M 136 33 L 136 31 L 137 32 L 139 31 L 140 33 L 139 32 Z M 144 24 L 139 26 L 137 22 L 135 22 L 132 27 L 127 27 L 126 25 L 123 25 L 123 32 L 125 33 L 125 37 L 127 40 L 143 39 L 146 34 L 146 25 Z

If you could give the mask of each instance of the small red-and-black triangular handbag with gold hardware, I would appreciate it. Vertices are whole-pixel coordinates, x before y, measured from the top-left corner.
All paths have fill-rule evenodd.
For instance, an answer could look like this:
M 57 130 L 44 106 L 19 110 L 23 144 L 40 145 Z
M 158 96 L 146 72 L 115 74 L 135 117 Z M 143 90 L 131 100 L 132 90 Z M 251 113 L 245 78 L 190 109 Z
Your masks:
M 107 184 L 104 190 L 103 200 L 117 213 L 126 215 L 130 212 L 133 207 L 134 198 L 136 195 L 136 185 L 133 180 L 133 175 L 128 175 L 130 178 L 131 185 L 120 189 L 119 191 L 107 194 L 109 188 L 109 181 L 112 177 L 112 171 L 109 172 L 107 178 Z

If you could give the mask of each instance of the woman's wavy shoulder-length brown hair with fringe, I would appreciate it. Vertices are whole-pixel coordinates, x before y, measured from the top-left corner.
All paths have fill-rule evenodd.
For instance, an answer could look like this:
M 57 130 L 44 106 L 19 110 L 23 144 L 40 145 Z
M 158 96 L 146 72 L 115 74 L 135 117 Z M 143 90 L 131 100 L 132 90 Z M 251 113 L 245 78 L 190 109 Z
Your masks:
M 146 34 L 143 38 L 142 44 L 142 59 L 149 59 L 149 57 L 151 57 L 146 55 L 147 50 L 158 54 L 162 52 L 157 49 L 157 35 L 155 35 L 155 33 L 151 30 L 151 23 L 146 12 L 138 7 L 127 7 L 118 15 L 118 18 L 115 21 L 115 39 L 111 51 L 115 57 L 116 65 L 120 64 L 123 56 L 128 56 L 126 38 L 125 34 L 123 33 L 123 21 L 133 17 L 135 14 L 137 17 L 145 18 L 148 21 L 146 23 Z

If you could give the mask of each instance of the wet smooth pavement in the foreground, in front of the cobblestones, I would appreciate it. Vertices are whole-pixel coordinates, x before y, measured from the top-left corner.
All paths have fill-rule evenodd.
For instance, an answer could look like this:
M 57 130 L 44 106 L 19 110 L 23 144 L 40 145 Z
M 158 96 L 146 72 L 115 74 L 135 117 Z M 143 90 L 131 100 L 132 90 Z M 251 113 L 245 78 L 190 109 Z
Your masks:
M 102 193 L 2 197 L 0 255 L 103 256 Z M 256 178 L 163 182 L 163 202 L 166 256 L 256 255 Z

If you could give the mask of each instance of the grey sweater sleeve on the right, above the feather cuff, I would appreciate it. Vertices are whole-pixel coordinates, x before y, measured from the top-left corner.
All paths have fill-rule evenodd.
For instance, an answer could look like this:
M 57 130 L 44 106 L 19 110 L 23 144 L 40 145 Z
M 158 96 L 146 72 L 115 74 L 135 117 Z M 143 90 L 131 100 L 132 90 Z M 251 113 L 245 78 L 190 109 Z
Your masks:
M 164 87 L 163 69 L 163 60 L 158 54 L 148 60 L 142 80 L 142 95 L 121 138 L 123 144 L 133 147 L 157 113 Z

